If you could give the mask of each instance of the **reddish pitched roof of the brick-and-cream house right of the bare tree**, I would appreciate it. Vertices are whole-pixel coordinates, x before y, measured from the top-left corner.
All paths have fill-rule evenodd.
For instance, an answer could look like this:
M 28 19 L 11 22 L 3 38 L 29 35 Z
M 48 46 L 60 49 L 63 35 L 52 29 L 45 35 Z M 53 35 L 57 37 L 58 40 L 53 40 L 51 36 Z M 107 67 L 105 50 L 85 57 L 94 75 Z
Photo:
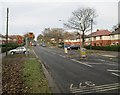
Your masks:
M 89 34 L 88 37 L 94 37 L 94 36 L 109 36 L 112 32 L 108 30 L 97 30 L 96 32 L 93 32 L 92 34 Z

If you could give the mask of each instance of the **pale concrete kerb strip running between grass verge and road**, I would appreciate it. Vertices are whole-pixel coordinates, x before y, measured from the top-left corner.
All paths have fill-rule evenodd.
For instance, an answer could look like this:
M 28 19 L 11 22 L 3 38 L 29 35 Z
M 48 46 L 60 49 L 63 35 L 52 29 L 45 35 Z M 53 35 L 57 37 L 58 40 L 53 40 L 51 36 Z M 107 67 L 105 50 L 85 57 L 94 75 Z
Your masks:
M 32 51 L 35 54 L 36 58 L 38 58 L 38 61 L 42 64 L 43 72 L 45 74 L 45 77 L 48 80 L 49 87 L 52 90 L 52 93 L 60 93 L 59 88 L 57 87 L 57 85 L 55 84 L 52 76 L 50 75 L 50 73 L 46 69 L 47 68 L 46 65 L 45 65 L 46 63 L 40 57 L 37 56 L 37 54 L 35 53 L 35 51 L 33 49 L 32 49 Z

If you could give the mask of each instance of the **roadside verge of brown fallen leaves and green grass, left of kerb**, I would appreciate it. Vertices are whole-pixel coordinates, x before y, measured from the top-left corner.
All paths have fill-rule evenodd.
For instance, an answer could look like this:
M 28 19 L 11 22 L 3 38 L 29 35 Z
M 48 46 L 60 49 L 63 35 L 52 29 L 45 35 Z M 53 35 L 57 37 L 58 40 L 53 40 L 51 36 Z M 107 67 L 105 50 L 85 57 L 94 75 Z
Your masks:
M 7 93 L 51 93 L 42 65 L 30 54 L 8 55 L 2 59 L 2 90 Z

